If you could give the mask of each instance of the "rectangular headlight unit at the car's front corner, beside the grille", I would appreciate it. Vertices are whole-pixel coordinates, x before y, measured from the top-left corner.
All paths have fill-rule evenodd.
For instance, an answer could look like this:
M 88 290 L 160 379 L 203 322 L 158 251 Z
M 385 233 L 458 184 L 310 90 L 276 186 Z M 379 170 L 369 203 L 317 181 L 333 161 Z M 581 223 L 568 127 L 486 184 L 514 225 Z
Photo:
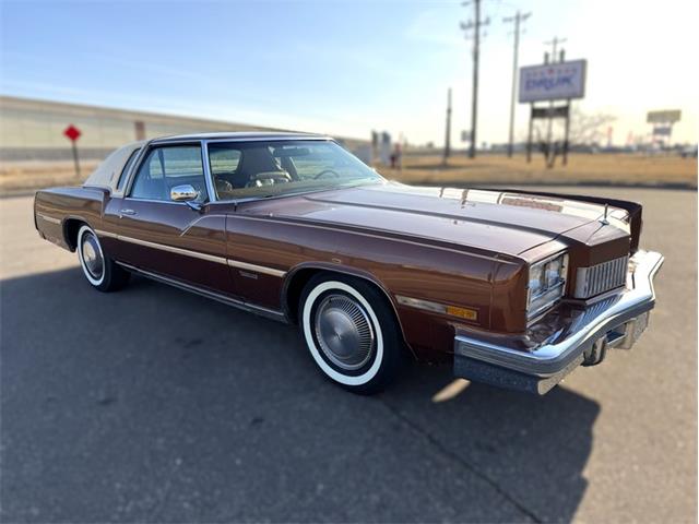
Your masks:
M 542 260 L 530 266 L 528 319 L 533 319 L 564 296 L 567 273 L 568 254 L 566 253 Z

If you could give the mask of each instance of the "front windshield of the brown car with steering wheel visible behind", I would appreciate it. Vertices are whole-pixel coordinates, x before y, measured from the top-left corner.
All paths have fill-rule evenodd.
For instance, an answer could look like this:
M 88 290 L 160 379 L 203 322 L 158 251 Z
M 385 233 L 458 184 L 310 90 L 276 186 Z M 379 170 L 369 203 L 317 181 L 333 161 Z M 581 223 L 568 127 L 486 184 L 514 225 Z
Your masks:
M 331 141 L 214 142 L 209 164 L 218 200 L 376 183 L 383 179 Z

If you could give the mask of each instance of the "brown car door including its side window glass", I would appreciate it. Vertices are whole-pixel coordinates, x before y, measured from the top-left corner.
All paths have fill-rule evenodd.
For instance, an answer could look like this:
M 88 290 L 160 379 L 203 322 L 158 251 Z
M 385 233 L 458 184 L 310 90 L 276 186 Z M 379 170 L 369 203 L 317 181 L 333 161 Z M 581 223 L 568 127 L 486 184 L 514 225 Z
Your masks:
M 192 186 L 190 206 L 170 191 Z M 111 199 L 105 219 L 114 224 L 119 260 L 159 276 L 233 294 L 226 264 L 225 216 L 211 212 L 201 145 L 156 145 L 141 163 L 123 198 Z M 199 207 L 199 209 L 194 209 Z

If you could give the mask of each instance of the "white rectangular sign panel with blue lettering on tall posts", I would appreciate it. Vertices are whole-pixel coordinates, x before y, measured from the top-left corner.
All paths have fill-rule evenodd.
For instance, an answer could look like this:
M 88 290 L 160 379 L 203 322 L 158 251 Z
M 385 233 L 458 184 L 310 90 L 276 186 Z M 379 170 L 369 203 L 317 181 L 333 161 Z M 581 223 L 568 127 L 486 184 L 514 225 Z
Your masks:
M 520 103 L 566 100 L 585 95 L 587 60 L 520 69 Z

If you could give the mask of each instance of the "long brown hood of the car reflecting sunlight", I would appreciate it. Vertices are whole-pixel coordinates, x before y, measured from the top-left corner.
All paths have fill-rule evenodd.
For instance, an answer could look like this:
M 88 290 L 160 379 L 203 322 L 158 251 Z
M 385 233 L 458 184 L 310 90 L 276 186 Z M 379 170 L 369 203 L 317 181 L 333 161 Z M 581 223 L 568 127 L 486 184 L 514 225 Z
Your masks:
M 256 212 L 517 255 L 600 219 L 604 206 L 507 191 L 390 182 L 275 199 Z

